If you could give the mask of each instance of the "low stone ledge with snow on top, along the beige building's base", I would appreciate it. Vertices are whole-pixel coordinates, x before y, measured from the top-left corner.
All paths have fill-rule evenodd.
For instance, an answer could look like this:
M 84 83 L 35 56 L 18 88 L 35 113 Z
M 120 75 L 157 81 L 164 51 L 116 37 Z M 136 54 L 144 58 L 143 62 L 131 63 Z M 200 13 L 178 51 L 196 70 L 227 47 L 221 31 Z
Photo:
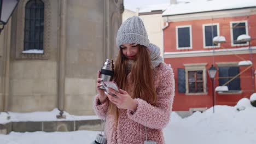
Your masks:
M 75 130 L 101 130 L 101 120 L 91 119 L 83 121 L 51 121 L 51 122 L 10 122 L 0 124 L 0 134 L 33 131 L 75 131 Z

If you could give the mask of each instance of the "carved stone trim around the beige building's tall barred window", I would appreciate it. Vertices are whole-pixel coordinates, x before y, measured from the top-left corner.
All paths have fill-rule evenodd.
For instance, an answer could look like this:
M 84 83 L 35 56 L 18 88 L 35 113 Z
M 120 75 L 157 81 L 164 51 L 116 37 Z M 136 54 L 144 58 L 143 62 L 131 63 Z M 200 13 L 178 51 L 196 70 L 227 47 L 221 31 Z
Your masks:
M 51 27 L 51 5 L 49 0 L 41 0 L 44 2 L 44 53 L 22 53 L 24 50 L 24 28 L 25 28 L 25 7 L 30 0 L 21 1 L 17 8 L 16 23 L 16 59 L 49 59 L 50 52 L 50 27 Z

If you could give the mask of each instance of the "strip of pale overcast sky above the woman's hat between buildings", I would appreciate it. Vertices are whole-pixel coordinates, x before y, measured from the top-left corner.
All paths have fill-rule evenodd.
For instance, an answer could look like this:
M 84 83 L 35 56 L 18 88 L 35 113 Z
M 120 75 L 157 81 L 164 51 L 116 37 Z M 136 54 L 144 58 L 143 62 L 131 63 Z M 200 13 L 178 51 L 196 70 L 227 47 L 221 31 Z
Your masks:
M 144 5 L 153 4 L 169 4 L 170 0 L 124 0 L 125 9 L 135 11 L 138 7 L 143 7 Z

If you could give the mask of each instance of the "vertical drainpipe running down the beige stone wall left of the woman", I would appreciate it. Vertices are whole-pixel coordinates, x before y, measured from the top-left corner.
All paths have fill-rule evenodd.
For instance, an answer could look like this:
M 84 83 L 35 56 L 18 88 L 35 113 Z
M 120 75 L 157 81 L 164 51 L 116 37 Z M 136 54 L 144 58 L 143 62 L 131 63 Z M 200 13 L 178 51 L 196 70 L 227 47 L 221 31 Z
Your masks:
M 60 5 L 60 35 L 59 35 L 59 69 L 58 69 L 58 109 L 60 115 L 57 118 L 65 118 L 62 116 L 65 109 L 65 71 L 66 71 L 66 13 L 67 0 L 61 0 Z

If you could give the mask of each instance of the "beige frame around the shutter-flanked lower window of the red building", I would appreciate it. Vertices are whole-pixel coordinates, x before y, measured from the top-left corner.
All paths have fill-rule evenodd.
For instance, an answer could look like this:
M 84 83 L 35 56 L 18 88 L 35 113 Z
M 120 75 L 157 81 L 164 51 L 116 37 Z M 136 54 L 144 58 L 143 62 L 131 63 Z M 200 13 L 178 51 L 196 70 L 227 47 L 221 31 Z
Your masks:
M 185 67 L 185 81 L 186 81 L 186 95 L 207 95 L 207 74 L 206 74 L 206 65 L 207 63 L 193 63 L 193 64 L 184 64 Z M 203 92 L 202 93 L 189 93 L 189 82 L 188 82 L 188 72 L 189 71 L 203 71 Z

